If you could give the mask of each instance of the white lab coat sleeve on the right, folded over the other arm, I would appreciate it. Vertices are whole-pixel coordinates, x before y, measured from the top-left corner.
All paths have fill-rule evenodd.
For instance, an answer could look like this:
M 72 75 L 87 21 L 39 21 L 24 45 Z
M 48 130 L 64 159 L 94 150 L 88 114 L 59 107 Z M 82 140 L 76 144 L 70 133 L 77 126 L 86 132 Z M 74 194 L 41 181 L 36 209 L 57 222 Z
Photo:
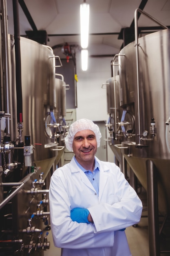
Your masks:
M 117 202 L 100 203 L 89 207 L 88 210 L 94 221 L 94 232 L 116 231 L 137 224 L 141 218 L 142 202 L 136 191 L 130 186 L 118 166 L 115 169 L 114 183 L 117 192 L 113 197 L 119 198 Z

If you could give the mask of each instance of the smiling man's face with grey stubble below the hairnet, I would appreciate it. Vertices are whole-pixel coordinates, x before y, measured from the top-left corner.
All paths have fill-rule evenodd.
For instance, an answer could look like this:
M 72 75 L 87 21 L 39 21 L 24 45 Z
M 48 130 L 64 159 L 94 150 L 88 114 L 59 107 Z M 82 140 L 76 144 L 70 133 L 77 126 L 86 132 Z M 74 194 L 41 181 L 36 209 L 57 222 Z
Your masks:
M 95 153 L 97 152 L 95 133 L 91 130 L 77 132 L 73 139 L 73 152 L 82 166 L 83 163 L 94 161 Z

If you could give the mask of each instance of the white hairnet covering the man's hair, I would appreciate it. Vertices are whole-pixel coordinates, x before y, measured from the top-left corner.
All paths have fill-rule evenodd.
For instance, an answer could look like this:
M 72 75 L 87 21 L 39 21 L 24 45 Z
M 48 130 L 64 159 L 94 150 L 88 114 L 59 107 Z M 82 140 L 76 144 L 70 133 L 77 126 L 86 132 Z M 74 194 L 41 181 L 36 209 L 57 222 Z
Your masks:
M 100 146 L 100 138 L 102 137 L 101 132 L 97 124 L 94 124 L 93 121 L 88 119 L 79 119 L 71 124 L 68 135 L 65 137 L 66 148 L 69 151 L 73 151 L 73 139 L 77 132 L 81 130 L 92 130 L 95 133 L 97 148 Z

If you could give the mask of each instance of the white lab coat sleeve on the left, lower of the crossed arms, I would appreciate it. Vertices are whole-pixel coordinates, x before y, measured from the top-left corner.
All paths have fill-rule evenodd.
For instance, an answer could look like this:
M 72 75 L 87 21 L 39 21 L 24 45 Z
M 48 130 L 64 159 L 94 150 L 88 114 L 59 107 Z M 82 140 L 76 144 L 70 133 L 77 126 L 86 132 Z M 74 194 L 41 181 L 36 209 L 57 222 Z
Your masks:
M 49 204 L 55 246 L 70 249 L 113 246 L 114 232 L 95 234 L 93 225 L 71 220 L 66 180 L 60 171 L 55 171 L 51 177 Z

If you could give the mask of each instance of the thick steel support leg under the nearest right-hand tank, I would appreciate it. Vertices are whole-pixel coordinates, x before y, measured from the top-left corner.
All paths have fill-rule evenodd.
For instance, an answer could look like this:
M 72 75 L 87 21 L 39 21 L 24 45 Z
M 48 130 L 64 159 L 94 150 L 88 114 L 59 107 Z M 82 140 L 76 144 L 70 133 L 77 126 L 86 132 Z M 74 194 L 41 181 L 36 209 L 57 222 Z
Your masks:
M 151 160 L 146 161 L 149 255 L 160 256 L 159 213 L 157 195 L 157 168 Z

